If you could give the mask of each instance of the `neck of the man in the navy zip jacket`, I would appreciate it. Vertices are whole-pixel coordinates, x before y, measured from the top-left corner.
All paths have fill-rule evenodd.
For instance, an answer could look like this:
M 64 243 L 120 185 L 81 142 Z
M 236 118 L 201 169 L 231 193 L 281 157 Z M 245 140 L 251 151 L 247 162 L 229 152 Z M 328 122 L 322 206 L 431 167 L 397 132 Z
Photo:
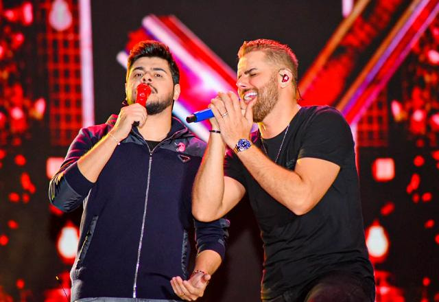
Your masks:
M 171 130 L 171 111 L 165 109 L 156 115 L 148 115 L 145 124 L 138 129 L 146 141 L 163 141 Z

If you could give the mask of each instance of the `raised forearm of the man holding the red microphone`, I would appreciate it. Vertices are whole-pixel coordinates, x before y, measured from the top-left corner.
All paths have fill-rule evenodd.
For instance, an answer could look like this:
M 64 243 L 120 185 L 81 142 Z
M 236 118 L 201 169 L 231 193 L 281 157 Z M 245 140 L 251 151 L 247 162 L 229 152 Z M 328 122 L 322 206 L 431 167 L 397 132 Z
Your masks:
M 78 160 L 78 169 L 88 181 L 97 181 L 117 145 L 117 138 L 106 135 Z

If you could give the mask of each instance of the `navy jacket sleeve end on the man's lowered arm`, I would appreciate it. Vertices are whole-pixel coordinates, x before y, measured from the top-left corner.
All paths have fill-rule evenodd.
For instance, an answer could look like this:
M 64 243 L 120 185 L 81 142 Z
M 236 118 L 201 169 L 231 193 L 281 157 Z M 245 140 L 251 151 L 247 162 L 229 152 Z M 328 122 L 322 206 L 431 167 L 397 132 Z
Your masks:
M 226 255 L 226 240 L 230 222 L 221 218 L 212 222 L 195 221 L 195 240 L 198 253 L 205 250 L 215 251 L 224 260 Z

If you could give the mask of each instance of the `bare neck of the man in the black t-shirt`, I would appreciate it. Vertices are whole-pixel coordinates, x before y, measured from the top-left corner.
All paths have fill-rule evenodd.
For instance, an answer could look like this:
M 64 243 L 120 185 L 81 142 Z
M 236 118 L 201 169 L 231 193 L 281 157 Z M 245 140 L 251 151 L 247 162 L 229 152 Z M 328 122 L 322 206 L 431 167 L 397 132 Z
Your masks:
M 279 133 L 281 133 L 289 122 L 293 119 L 294 115 L 299 111 L 300 106 L 297 104 L 296 99 L 288 100 L 288 102 L 276 103 L 273 110 L 258 123 L 259 131 L 263 139 L 271 139 Z

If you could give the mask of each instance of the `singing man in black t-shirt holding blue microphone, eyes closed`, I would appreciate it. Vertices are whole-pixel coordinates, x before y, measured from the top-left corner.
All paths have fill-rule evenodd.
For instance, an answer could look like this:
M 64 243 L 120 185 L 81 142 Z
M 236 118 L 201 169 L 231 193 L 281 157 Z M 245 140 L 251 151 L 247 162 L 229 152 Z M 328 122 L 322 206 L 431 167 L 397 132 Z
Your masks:
M 213 221 L 248 194 L 265 252 L 265 302 L 374 301 L 351 129 L 335 108 L 298 105 L 287 45 L 254 40 L 238 55 L 241 102 L 233 92 L 211 101 L 193 215 Z

